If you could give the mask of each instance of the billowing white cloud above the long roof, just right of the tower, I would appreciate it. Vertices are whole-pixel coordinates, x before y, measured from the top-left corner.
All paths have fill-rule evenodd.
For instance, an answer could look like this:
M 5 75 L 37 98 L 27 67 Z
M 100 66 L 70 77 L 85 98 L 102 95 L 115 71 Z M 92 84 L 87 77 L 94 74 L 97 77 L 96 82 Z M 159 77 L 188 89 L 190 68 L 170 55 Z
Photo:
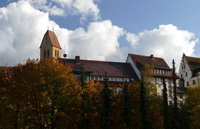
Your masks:
M 110 20 L 93 22 L 87 31 L 78 28 L 69 35 L 69 52 L 86 59 L 106 60 L 118 51 L 118 39 L 123 33 L 123 29 L 112 25 Z

